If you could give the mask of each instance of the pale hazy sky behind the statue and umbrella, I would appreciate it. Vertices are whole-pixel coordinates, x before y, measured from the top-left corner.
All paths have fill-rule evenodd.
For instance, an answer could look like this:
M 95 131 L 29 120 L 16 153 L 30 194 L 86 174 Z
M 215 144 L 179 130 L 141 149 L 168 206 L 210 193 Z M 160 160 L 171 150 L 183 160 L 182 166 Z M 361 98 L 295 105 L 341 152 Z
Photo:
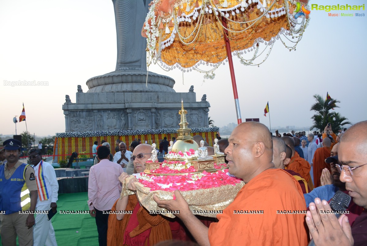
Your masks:
M 362 5 L 363 0 L 312 0 L 319 5 Z M 363 13 L 364 17 L 329 17 L 328 13 Z M 272 126 L 308 127 L 314 114 L 313 95 L 326 93 L 341 101 L 341 113 L 352 123 L 366 120 L 366 10 L 312 10 L 309 26 L 296 51 L 279 41 L 260 67 L 241 65 L 234 57 L 241 116 L 260 118 L 269 126 L 264 108 L 269 101 Z M 114 71 L 116 27 L 113 3 L 108 0 L 1 0 L 0 1 L 0 133 L 15 134 L 17 118 L 25 106 L 28 131 L 38 136 L 65 132 L 62 104 L 73 103 L 77 85 L 87 92 L 86 81 Z M 216 126 L 237 122 L 228 64 L 203 74 L 165 72 L 156 65 L 149 71 L 175 79 L 176 92 L 194 85 L 196 99 L 207 95 L 209 116 Z M 7 81 L 42 81 L 48 85 L 9 86 Z M 178 122 L 177 122 L 178 123 Z M 17 123 L 17 133 L 26 130 Z

